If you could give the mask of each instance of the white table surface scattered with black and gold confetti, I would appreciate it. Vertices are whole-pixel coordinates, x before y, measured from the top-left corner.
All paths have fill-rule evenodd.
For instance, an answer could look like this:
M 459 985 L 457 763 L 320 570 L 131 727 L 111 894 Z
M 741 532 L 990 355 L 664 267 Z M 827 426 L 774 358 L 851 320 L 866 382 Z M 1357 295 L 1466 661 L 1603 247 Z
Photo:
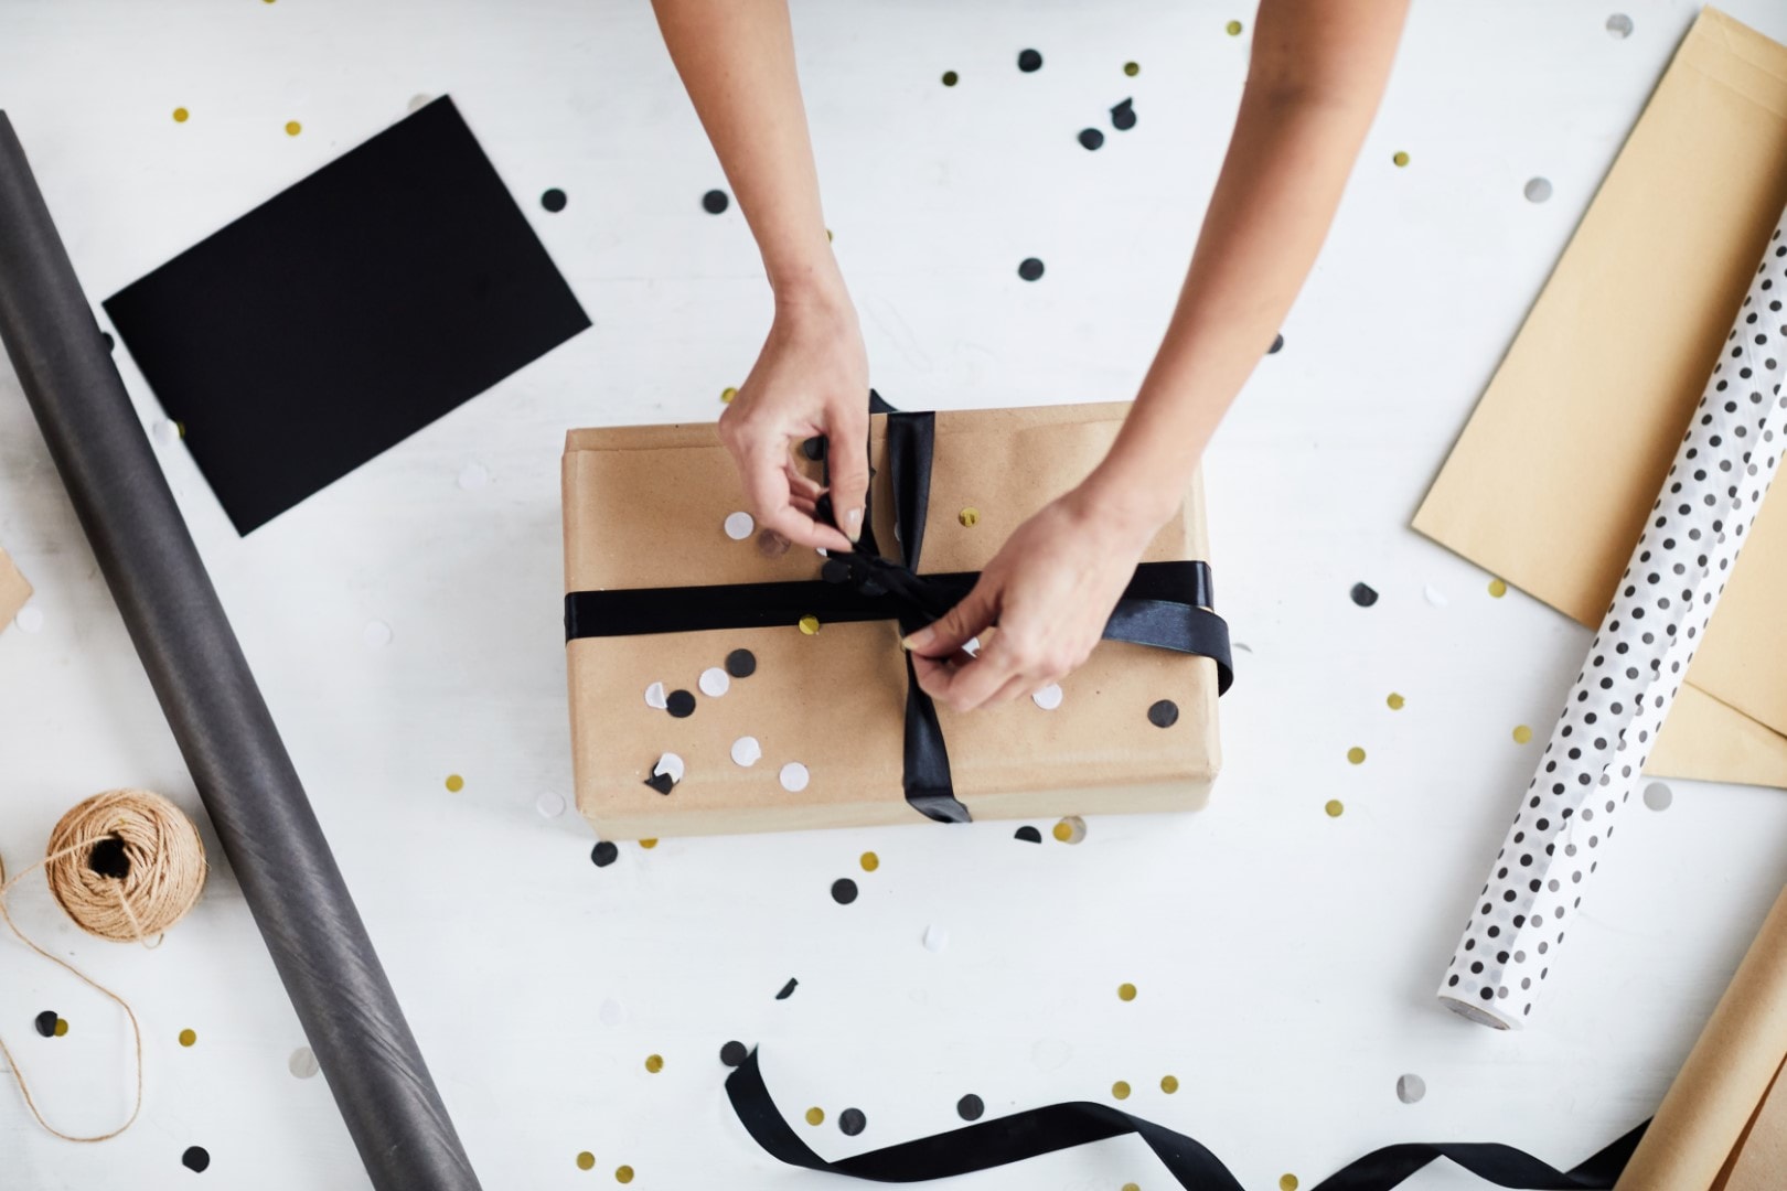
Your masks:
M 1787 39 L 1773 0 L 1730 9 Z M 1208 811 L 1092 818 L 1078 846 L 913 825 L 624 845 L 595 868 L 588 827 L 536 809 L 570 793 L 561 436 L 715 416 L 768 318 L 736 205 L 701 209 L 724 180 L 647 4 L 0 2 L 0 105 L 95 309 L 413 96 L 450 93 L 595 321 L 247 539 L 157 439 L 486 1187 L 609 1186 L 620 1164 L 640 1187 L 838 1186 L 736 1125 L 727 1039 L 763 1045 L 790 1118 L 827 1111 L 797 1129 L 829 1157 L 949 1129 L 965 1093 L 1001 1114 L 1108 1100 L 1122 1079 L 1122 1107 L 1263 1189 L 1405 1139 L 1573 1164 L 1657 1107 L 1787 873 L 1787 795 L 1674 782 L 1664 812 L 1633 802 L 1530 1029 L 1440 1009 L 1589 634 L 1490 598 L 1489 575 L 1408 529 L 1694 16 L 1623 11 L 1633 34 L 1615 39 L 1608 5 L 1415 4 L 1285 348 L 1208 455 L 1217 593 L 1244 643 Z M 1231 18 L 1251 29 L 1246 5 L 1185 0 L 797 5 L 827 218 L 890 400 L 1133 395 L 1240 93 Z M 1015 68 L 1026 46 L 1045 55 L 1035 75 Z M 1138 125 L 1113 132 L 1126 96 Z M 1088 125 L 1106 127 L 1095 154 L 1074 139 Z M 1523 196 L 1531 177 L 1549 202 Z M 547 187 L 563 212 L 540 207 Z M 1029 255 L 1047 262 L 1035 284 L 1015 271 Z M 154 427 L 154 395 L 118 362 Z M 474 464 L 488 482 L 461 484 Z M 0 634 L 0 852 L 41 855 L 64 809 L 114 786 L 198 812 L 9 370 L 0 541 L 41 614 Z M 1353 605 L 1358 580 L 1376 607 Z M 390 645 L 366 643 L 370 621 Z M 1533 743 L 1512 741 L 1519 723 Z M 0 1079 L 9 1191 L 365 1186 L 323 1079 L 288 1071 L 304 1037 L 204 830 L 211 884 L 157 952 L 89 939 L 41 882 L 14 895 L 29 930 L 136 1005 L 147 1100 L 123 1137 L 75 1146 Z M 849 907 L 827 895 L 843 875 L 863 889 Z M 931 925 L 942 952 L 920 945 Z M 788 977 L 799 991 L 776 1002 Z M 36 1036 L 41 1009 L 68 1037 Z M 122 1118 L 118 1012 L 9 941 L 0 1034 L 64 1129 Z M 1397 1100 L 1403 1073 L 1426 1082 L 1419 1104 Z M 868 1118 L 858 1137 L 835 1127 L 845 1107 Z M 204 1175 L 180 1166 L 189 1145 L 213 1157 Z M 1167 1182 L 1135 1139 L 961 1186 L 1124 1182 Z M 1478 1184 L 1431 1168 L 1408 1186 Z

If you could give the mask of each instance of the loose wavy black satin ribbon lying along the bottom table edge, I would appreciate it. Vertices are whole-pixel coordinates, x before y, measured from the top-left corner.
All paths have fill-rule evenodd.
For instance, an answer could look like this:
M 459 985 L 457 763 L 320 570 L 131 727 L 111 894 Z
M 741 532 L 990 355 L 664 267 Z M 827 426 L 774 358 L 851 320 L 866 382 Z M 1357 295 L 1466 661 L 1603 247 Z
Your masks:
M 1229 1173 L 1222 1159 L 1201 1143 L 1090 1100 L 1026 1109 L 827 1162 L 795 1136 L 793 1127 L 776 1109 L 768 1087 L 763 1086 L 756 1050 L 726 1079 L 726 1095 L 751 1139 L 770 1157 L 827 1175 L 868 1182 L 927 1182 L 1135 1134 L 1187 1191 L 1242 1191 L 1240 1180 Z M 1388 1191 L 1440 1157 L 1498 1187 L 1608 1191 L 1619 1180 L 1619 1171 L 1626 1168 L 1648 1125 L 1649 1121 L 1644 1121 L 1571 1170 L 1558 1170 L 1524 1150 L 1492 1141 L 1392 1145 L 1347 1162 L 1315 1184 L 1313 1191 Z

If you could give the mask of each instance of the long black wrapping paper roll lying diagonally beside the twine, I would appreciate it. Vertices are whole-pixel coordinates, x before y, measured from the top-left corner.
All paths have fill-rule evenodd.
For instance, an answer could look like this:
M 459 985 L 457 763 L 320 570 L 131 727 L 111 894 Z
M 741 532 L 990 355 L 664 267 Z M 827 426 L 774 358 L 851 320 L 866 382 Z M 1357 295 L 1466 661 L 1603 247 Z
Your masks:
M 475 1191 L 5 112 L 0 339 L 373 1187 Z

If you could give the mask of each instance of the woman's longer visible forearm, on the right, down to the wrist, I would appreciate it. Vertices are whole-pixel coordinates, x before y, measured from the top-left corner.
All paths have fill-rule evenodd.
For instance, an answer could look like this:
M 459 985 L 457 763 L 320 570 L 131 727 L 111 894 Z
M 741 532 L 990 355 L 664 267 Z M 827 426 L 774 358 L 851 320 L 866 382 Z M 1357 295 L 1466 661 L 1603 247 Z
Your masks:
M 1406 0 L 1263 0 L 1253 68 L 1172 321 L 1085 493 L 1147 525 L 1178 507 L 1272 345 L 1371 127 Z

